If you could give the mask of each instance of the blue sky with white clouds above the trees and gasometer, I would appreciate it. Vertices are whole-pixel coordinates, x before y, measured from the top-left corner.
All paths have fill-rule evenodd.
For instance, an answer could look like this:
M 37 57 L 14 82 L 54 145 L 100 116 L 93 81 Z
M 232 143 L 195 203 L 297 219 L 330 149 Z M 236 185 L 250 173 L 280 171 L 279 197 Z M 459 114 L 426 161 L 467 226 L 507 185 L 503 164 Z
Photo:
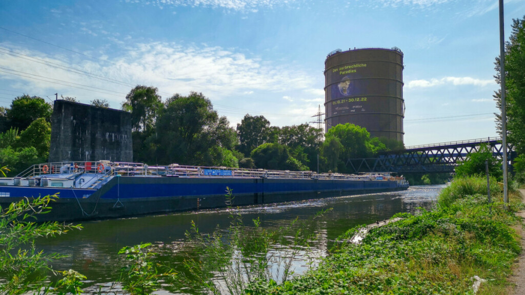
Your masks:
M 505 1 L 506 40 L 524 15 Z M 406 146 L 497 136 L 497 0 L 0 0 L 0 107 L 57 93 L 120 109 L 144 85 L 202 92 L 233 127 L 313 122 L 324 60 L 353 47 L 403 51 Z

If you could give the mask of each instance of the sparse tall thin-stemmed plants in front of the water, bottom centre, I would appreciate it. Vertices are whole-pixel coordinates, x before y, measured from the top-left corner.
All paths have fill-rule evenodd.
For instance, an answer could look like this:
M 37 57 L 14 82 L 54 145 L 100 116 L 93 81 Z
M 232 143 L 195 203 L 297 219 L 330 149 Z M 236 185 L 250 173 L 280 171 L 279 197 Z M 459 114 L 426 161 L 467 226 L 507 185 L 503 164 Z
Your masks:
M 226 199 L 232 204 L 229 188 Z M 271 230 L 261 227 L 259 218 L 247 226 L 234 208 L 229 209 L 230 225 L 226 230 L 217 228 L 211 234 L 202 234 L 192 221 L 186 233 L 186 249 L 182 252 L 185 271 L 178 275 L 181 284 L 191 286 L 195 292 L 244 294 L 260 282 L 288 281 L 293 276 L 293 261 L 303 256 L 316 238 L 309 225 L 327 212 L 319 212 L 308 222 L 295 219 L 287 227 Z

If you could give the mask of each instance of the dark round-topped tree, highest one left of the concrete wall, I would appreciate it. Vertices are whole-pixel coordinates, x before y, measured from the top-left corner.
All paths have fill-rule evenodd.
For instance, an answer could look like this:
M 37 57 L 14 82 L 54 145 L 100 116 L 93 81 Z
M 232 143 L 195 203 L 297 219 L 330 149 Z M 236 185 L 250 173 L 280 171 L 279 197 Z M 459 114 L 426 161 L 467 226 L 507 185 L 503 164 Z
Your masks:
M 7 119 L 10 127 L 24 130 L 38 118 L 50 122 L 52 112 L 53 108 L 43 98 L 24 94 L 11 102 L 11 108 L 7 110 Z

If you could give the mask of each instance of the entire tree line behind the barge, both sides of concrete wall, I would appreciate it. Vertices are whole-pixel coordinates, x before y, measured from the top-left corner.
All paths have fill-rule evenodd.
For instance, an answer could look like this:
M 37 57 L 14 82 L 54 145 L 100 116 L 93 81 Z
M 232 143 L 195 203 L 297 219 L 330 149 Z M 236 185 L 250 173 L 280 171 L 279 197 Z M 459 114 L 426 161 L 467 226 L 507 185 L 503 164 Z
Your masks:
M 91 104 L 109 107 L 105 100 Z M 133 160 L 150 165 L 344 173 L 350 172 L 345 166 L 350 157 L 403 149 L 400 142 L 370 138 L 366 129 L 352 124 L 331 128 L 323 138 L 321 129 L 307 123 L 276 127 L 262 115 L 246 114 L 234 128 L 199 92 L 162 100 L 157 88 L 139 85 L 127 94 L 121 107 L 131 114 Z M 12 168 L 10 174 L 47 161 L 52 110 L 43 98 L 27 94 L 0 110 L 0 163 Z

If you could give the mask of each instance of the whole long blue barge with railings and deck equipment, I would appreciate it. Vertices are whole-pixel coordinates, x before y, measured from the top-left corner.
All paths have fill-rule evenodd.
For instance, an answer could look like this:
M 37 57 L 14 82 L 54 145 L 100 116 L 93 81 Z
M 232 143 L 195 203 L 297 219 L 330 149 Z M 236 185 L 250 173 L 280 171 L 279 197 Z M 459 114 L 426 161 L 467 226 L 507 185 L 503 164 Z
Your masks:
M 25 197 L 57 194 L 38 221 L 107 219 L 226 206 L 402 191 L 403 177 L 315 173 L 110 161 L 45 163 L 17 177 L 0 178 L 0 206 Z

